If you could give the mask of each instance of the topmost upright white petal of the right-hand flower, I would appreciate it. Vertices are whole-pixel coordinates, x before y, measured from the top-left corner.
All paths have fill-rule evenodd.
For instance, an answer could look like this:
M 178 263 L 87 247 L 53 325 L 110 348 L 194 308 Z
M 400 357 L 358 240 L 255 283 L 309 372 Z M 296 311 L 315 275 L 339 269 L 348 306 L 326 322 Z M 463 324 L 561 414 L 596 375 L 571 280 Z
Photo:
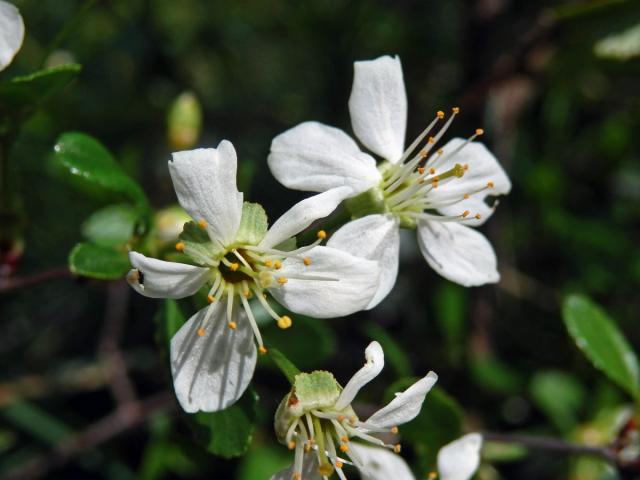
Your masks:
M 400 160 L 407 127 L 407 93 L 400 58 L 384 56 L 353 64 L 349 98 L 351 125 L 372 152 Z

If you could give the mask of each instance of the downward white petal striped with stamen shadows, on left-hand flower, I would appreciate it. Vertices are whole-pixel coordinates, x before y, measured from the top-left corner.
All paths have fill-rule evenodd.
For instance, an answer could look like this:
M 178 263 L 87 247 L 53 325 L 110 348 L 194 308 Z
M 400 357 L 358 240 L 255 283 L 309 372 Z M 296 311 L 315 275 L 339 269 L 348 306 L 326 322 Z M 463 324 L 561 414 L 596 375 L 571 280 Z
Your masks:
M 203 323 L 207 309 L 213 309 Z M 173 386 L 185 412 L 216 412 L 236 402 L 256 366 L 256 346 L 246 317 L 227 326 L 224 302 L 203 308 L 171 339 Z M 200 336 L 198 330 L 204 329 Z

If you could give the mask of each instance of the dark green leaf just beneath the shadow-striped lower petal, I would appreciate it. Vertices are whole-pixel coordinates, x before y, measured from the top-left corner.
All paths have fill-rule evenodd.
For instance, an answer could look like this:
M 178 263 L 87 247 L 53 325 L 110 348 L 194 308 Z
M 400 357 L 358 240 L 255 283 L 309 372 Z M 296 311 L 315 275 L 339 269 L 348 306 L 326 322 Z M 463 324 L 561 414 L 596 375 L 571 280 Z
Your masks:
M 198 443 L 225 458 L 244 455 L 251 446 L 258 394 L 249 388 L 235 404 L 219 412 L 190 416 Z

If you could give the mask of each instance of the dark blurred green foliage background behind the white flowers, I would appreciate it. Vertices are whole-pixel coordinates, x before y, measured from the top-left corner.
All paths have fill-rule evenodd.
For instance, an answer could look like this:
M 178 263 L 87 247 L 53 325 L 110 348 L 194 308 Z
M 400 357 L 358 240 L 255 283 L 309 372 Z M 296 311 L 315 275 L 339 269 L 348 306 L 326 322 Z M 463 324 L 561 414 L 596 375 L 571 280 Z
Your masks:
M 629 352 L 640 348 L 637 2 L 15 3 L 27 38 L 0 74 L 0 136 L 12 140 L 0 152 L 2 192 L 10 193 L 0 208 L 2 275 L 49 272 L 71 253 L 75 273 L 118 278 L 128 246 L 166 256 L 184 218 L 152 209 L 175 203 L 166 162 L 180 141 L 233 141 L 245 199 L 277 218 L 302 197 L 269 174 L 271 139 L 304 120 L 348 131 L 352 62 L 398 54 L 407 136 L 434 111 L 460 105 L 453 135 L 483 126 L 509 172 L 513 191 L 483 227 L 501 283 L 451 285 L 406 239 L 398 282 L 379 307 L 330 321 L 292 315 L 286 331 L 261 327 L 267 343 L 298 368 L 330 370 L 344 384 L 366 343 L 380 341 L 388 365 L 358 397 L 365 417 L 386 387 L 397 391 L 395 382 L 435 370 L 442 389 L 401 429 L 403 454 L 420 475 L 439 444 L 463 428 L 595 444 L 619 434 L 638 388 Z M 187 121 L 176 110 L 185 91 Z M 101 363 L 118 299 L 112 289 L 67 277 L 0 289 L 0 476 L 112 412 Z M 572 315 L 565 304 L 569 335 L 560 299 L 573 292 L 593 301 L 569 297 L 584 307 Z M 162 346 L 197 305 L 127 293 L 120 308 L 118 341 L 137 395 L 171 389 Z M 584 348 L 582 337 L 596 346 Z M 79 368 L 87 362 L 97 366 Z M 211 455 L 207 446 L 221 453 L 207 436 L 215 432 L 207 430 L 202 446 L 185 416 L 167 409 L 44 475 L 268 478 L 292 458 L 272 429 L 290 385 L 265 359 L 253 388 L 260 400 L 236 412 L 256 419 L 233 452 L 247 447 L 244 457 Z M 600 460 L 550 461 L 545 452 L 498 444 L 486 450 L 496 463 L 481 478 L 618 478 Z

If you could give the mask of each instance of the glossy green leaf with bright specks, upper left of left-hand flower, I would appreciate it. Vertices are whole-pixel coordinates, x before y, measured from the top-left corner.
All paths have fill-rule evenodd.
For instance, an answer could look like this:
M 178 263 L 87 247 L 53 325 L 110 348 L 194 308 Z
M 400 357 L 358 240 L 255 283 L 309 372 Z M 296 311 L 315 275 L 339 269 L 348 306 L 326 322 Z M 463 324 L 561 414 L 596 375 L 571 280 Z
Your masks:
M 80 132 L 63 133 L 54 147 L 54 173 L 100 201 L 124 200 L 148 209 L 140 186 L 95 138 Z

